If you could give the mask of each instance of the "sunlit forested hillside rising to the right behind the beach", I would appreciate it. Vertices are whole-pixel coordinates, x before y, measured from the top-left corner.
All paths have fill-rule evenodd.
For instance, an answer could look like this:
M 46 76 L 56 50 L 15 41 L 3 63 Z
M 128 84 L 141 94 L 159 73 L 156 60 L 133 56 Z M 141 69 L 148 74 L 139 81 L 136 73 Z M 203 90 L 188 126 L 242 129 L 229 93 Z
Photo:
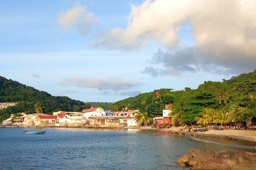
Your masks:
M 223 82 L 207 81 L 194 90 L 189 87 L 181 91 L 170 90 L 154 90 L 109 104 L 107 107 L 114 111 L 144 107 L 149 114 L 161 116 L 164 105 L 172 103 L 173 115 L 177 113 L 175 116 L 178 123 L 196 122 L 196 117 L 204 117 L 205 112 L 209 113 L 210 109 L 216 111 L 214 114 L 217 111 L 234 112 L 236 120 L 240 122 L 256 117 L 256 71 L 234 76 L 230 80 L 223 79 Z M 161 95 L 158 98 L 155 95 L 157 91 Z M 234 108 L 236 111 L 231 110 Z

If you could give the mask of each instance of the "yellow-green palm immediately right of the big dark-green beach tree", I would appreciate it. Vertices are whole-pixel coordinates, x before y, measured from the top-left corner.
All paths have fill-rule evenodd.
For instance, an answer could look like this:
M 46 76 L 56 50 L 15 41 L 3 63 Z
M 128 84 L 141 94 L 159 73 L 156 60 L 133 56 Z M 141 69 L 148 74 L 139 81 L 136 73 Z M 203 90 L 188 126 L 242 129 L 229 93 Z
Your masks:
M 217 110 L 216 109 L 209 109 L 205 108 L 201 112 L 203 115 L 202 117 L 196 117 L 195 120 L 197 120 L 197 123 L 205 125 L 207 122 L 212 122 L 215 120 L 214 116 L 217 115 Z

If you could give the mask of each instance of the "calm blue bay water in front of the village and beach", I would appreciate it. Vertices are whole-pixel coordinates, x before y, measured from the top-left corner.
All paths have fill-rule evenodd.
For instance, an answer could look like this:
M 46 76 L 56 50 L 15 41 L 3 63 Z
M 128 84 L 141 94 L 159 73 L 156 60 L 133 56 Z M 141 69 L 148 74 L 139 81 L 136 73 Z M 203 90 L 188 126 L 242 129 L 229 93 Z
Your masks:
M 24 130 L 46 134 L 25 135 Z M 256 152 L 254 145 L 132 129 L 0 128 L 0 169 L 184 170 L 175 160 L 188 149 Z

